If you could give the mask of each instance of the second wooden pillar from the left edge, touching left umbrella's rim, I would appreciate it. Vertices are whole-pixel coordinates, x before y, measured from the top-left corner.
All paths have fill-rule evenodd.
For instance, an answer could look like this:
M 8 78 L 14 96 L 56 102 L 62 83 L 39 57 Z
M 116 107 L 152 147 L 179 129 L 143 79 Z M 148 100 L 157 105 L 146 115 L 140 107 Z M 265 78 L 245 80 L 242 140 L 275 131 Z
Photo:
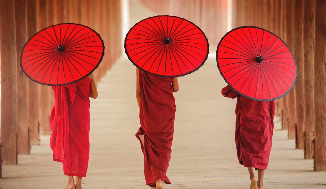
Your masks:
M 16 47 L 17 47 L 17 131 L 18 153 L 29 154 L 28 128 L 28 78 L 20 67 L 20 53 L 27 41 L 26 0 L 15 0 Z

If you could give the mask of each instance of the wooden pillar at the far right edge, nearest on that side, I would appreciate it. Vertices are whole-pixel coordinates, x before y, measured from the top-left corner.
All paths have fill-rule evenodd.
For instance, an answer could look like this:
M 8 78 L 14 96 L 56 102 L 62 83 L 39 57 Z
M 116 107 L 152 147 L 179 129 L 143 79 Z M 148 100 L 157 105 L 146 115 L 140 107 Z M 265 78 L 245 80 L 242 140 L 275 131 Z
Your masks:
M 326 1 L 316 0 L 315 25 L 315 170 L 326 171 Z

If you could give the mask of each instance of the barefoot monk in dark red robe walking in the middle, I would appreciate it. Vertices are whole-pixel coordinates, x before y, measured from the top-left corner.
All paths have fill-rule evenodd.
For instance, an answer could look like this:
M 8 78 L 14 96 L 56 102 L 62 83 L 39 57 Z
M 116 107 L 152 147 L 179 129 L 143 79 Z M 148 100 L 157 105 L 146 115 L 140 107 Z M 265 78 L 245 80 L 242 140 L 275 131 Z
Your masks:
M 144 154 L 146 185 L 164 189 L 171 159 L 178 78 L 159 77 L 136 68 L 136 98 L 141 127 L 136 133 Z

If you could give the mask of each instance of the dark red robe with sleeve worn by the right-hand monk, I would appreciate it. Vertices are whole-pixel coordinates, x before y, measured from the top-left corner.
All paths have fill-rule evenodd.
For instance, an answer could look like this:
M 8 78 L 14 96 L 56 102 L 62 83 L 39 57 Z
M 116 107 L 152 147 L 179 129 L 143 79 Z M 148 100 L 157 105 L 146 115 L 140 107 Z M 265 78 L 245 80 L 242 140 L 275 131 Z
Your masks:
M 275 101 L 257 101 L 239 95 L 230 86 L 222 95 L 237 98 L 235 108 L 235 145 L 238 160 L 244 167 L 267 169 L 272 148 Z

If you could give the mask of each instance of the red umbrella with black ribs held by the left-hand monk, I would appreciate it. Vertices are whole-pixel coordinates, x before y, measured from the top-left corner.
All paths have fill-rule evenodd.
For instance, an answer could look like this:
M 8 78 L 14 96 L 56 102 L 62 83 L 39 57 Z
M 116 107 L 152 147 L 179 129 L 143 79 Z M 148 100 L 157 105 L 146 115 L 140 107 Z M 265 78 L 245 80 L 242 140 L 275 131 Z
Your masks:
M 20 66 L 37 83 L 67 85 L 91 74 L 103 55 L 103 40 L 93 29 L 64 23 L 32 36 L 22 50 Z

